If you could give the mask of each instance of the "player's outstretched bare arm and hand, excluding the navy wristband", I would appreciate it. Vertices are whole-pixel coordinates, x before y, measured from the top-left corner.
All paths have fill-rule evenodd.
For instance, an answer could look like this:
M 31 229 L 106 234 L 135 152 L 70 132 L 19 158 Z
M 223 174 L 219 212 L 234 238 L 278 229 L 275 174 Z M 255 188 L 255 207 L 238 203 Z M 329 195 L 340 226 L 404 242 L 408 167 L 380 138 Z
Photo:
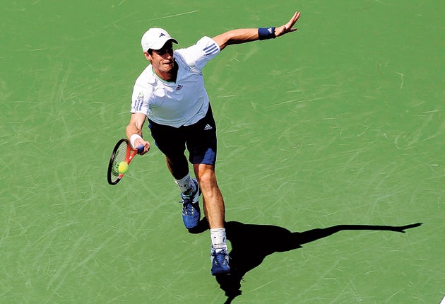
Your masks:
M 297 11 L 285 25 L 275 28 L 275 35 L 272 37 L 280 37 L 281 35 L 295 32 L 297 28 L 292 28 L 292 26 L 294 26 L 298 21 L 299 15 L 300 13 Z M 223 50 L 225 47 L 227 47 L 227 45 L 237 45 L 240 43 L 259 40 L 260 38 L 258 28 L 240 28 L 237 30 L 229 30 L 228 32 L 215 36 L 212 39 L 219 45 L 220 49 Z

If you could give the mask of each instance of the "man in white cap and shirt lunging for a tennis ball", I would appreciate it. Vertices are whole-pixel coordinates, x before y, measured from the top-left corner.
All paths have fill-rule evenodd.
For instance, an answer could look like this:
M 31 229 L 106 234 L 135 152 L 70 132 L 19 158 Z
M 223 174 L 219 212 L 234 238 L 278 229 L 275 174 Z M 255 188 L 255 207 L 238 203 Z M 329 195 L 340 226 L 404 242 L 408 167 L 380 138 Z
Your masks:
M 187 229 L 198 225 L 201 212 L 198 197 L 202 192 L 203 210 L 210 227 L 211 274 L 230 272 L 225 236 L 225 204 L 215 176 L 216 125 L 202 69 L 228 45 L 266 40 L 292 33 L 300 13 L 278 28 L 230 30 L 213 38 L 202 37 L 195 45 L 173 50 L 172 38 L 162 28 L 150 28 L 143 35 L 143 54 L 150 64 L 136 79 L 131 103 L 131 119 L 126 136 L 134 147 L 143 145 L 141 154 L 150 150 L 142 138 L 148 127 L 156 146 L 165 154 L 167 167 L 179 187 L 182 219 Z M 193 165 L 189 173 L 185 150 Z

